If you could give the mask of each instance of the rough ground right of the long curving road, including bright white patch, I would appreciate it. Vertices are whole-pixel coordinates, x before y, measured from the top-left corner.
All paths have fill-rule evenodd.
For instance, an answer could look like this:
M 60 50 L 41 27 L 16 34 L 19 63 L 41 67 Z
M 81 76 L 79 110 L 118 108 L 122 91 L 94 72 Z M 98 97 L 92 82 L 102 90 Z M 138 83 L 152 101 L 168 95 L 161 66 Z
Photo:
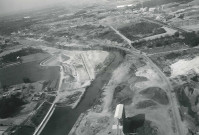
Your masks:
M 186 124 L 189 133 L 196 133 L 198 131 L 198 49 L 159 54 L 151 58 L 160 67 L 164 67 L 162 70 L 170 77 L 174 87 L 181 120 Z

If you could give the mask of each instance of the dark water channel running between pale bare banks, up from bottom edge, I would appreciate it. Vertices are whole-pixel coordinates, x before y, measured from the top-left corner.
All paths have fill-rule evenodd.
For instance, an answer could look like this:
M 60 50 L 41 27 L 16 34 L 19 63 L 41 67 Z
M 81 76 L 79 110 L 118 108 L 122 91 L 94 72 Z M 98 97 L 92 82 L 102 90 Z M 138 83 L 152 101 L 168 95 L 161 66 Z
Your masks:
M 93 103 L 100 98 L 103 86 L 108 83 L 112 72 L 123 60 L 123 56 L 119 52 L 113 53 L 116 56 L 114 61 L 87 88 L 85 96 L 79 105 L 75 109 L 57 107 L 41 135 L 67 135 L 80 114 L 90 109 Z

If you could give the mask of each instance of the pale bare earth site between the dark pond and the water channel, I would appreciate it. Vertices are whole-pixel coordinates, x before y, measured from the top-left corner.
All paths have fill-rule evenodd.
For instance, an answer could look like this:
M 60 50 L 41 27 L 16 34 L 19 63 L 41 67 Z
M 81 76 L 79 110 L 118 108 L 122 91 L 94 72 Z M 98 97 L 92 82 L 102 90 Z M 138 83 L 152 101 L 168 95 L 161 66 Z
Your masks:
M 48 49 L 50 53 L 52 50 Z M 75 108 L 91 81 L 113 59 L 113 54 L 104 51 L 62 51 L 43 63 L 46 66 L 63 66 L 64 78 L 58 95 L 58 106 Z

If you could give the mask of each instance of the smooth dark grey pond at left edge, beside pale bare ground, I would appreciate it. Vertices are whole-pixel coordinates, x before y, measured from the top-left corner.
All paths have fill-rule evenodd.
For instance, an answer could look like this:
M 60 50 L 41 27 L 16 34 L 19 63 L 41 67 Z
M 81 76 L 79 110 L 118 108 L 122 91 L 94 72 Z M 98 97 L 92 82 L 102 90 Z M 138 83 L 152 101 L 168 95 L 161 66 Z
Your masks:
M 42 67 L 40 66 L 41 61 L 22 63 L 0 69 L 0 87 L 23 83 L 24 77 L 28 77 L 32 82 L 59 78 L 59 67 Z

